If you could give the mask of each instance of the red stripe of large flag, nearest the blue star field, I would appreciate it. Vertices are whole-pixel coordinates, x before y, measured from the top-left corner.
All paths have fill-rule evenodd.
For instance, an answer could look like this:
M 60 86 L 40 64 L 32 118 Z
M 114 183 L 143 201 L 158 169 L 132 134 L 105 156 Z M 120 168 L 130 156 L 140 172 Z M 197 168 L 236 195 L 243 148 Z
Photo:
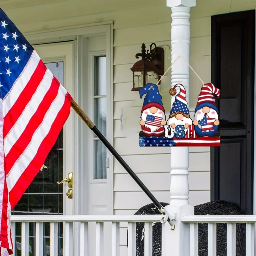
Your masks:
M 46 72 L 46 66 L 43 61 L 40 60 L 34 74 L 31 76 L 28 84 L 24 88 L 24 90 L 20 93 L 20 96 L 13 104 L 12 108 L 8 111 L 6 116 L 4 117 L 4 138 L 7 133 L 10 132 L 12 126 L 16 123 L 19 116 L 22 114 L 22 111 L 31 100 L 33 94 L 36 92 L 37 86 L 42 81 L 44 74 Z M 5 100 L 4 104 L 8 101 Z

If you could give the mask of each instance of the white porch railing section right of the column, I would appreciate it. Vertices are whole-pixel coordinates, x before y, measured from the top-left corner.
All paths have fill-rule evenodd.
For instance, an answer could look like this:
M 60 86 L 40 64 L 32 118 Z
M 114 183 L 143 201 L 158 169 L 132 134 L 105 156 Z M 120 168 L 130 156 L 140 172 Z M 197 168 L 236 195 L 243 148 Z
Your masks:
M 255 256 L 255 215 L 194 215 L 181 217 L 181 221 L 190 225 L 190 256 L 198 255 L 198 223 L 208 223 L 209 256 L 216 255 L 217 223 L 227 223 L 227 256 L 236 255 L 236 223 L 246 223 L 245 255 Z

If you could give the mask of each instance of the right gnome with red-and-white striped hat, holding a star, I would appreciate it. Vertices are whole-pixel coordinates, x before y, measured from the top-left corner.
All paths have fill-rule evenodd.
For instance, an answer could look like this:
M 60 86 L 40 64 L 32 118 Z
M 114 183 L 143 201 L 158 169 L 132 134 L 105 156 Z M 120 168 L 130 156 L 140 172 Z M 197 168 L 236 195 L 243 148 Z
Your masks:
M 218 125 L 220 124 L 218 109 L 213 93 L 220 97 L 220 89 L 213 84 L 204 84 L 198 96 L 195 109 L 194 122 L 197 137 L 219 137 Z

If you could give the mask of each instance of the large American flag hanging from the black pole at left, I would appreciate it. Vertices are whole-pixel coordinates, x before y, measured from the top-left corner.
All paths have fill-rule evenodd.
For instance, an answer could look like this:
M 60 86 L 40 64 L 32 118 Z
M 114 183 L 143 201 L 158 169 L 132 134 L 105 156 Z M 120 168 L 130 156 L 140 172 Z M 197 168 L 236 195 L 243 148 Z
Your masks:
M 72 97 L 0 9 L 0 249 L 12 254 L 10 211 L 65 124 Z

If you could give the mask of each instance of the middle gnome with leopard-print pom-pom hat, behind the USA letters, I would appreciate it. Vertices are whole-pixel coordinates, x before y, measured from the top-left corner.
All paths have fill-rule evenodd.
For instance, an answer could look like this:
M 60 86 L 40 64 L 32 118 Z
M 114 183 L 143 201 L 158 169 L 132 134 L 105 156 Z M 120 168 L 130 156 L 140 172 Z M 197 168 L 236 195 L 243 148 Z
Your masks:
M 188 131 L 188 125 L 192 125 L 192 119 L 189 116 L 188 111 L 188 102 L 186 100 L 186 91 L 182 84 L 176 84 L 169 93 L 174 96 L 177 91 L 176 88 L 180 88 L 180 92 L 175 97 L 175 101 L 172 104 L 172 109 L 170 111 L 169 119 L 167 120 L 167 124 L 171 125 L 174 129 L 175 137 L 179 138 L 179 132 L 176 131 L 177 125 L 183 125 L 185 127 L 184 132 Z

